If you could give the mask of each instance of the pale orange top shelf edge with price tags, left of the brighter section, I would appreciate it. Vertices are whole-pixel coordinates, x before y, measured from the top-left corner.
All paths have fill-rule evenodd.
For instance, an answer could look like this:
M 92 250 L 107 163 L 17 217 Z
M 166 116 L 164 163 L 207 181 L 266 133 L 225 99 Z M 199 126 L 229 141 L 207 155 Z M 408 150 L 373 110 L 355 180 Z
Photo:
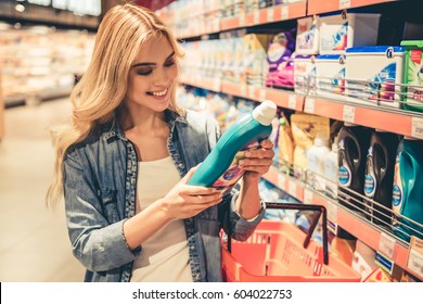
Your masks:
M 306 11 L 307 1 L 271 7 L 253 13 L 225 18 L 220 22 L 220 29 L 229 30 L 240 27 L 249 27 L 272 22 L 293 20 L 305 16 Z

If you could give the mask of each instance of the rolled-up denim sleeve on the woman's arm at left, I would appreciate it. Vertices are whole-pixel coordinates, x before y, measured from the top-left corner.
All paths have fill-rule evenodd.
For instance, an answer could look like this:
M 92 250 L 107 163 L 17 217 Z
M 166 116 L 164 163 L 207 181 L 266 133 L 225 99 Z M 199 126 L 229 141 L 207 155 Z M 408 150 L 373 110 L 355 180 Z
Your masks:
M 81 166 L 77 151 L 64 160 L 64 197 L 67 229 L 73 253 L 91 271 L 106 271 L 133 261 L 140 248 L 131 251 L 123 225 L 107 220 L 99 189 Z

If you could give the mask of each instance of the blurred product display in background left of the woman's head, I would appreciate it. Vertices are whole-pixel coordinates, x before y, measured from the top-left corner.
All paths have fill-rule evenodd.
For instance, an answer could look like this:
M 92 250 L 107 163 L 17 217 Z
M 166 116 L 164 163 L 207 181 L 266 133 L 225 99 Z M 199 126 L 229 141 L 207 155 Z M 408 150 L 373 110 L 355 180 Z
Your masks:
M 91 58 L 94 34 L 0 23 L 2 97 L 7 106 L 68 96 Z

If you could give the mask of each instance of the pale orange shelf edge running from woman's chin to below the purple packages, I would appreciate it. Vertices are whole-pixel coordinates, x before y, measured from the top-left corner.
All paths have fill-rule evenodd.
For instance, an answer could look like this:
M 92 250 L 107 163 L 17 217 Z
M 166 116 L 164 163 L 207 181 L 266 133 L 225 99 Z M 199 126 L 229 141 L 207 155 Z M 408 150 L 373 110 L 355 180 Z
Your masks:
M 206 90 L 222 92 L 254 101 L 270 99 L 278 106 L 303 111 L 305 96 L 296 94 L 294 91 L 279 90 L 272 88 L 260 88 L 255 86 L 240 85 L 229 81 L 220 81 L 219 78 L 183 77 L 182 84 L 203 88 Z

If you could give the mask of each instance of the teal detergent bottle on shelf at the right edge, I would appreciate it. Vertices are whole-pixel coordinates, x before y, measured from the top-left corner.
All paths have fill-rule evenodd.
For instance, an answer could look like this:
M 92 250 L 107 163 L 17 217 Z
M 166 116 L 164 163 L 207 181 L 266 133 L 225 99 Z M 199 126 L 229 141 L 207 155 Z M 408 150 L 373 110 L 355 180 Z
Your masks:
M 410 240 L 423 239 L 423 141 L 405 137 L 395 161 L 393 212 L 394 232 Z M 405 218 L 407 217 L 407 218 Z M 418 223 L 411 223 L 409 219 Z

